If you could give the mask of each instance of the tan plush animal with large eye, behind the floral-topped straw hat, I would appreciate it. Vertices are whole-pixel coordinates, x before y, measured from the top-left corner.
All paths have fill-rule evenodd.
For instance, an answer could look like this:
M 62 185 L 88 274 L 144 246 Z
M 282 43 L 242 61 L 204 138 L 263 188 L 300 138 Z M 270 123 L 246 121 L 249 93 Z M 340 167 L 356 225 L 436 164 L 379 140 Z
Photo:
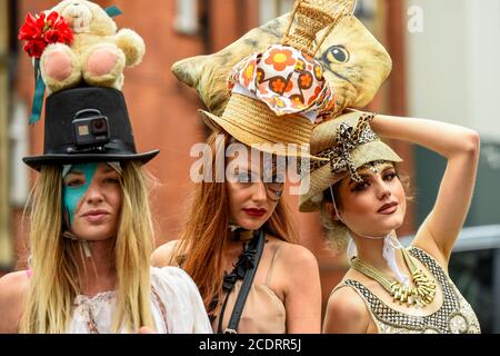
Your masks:
M 334 13 L 339 9 L 351 9 L 354 1 L 310 1 L 323 12 Z M 318 33 L 322 43 L 314 42 L 316 59 L 321 63 L 323 77 L 334 92 L 333 117 L 346 108 L 363 108 L 374 97 L 388 78 L 392 62 L 383 46 L 354 16 L 337 17 L 333 28 Z M 273 19 L 249 31 L 221 51 L 209 56 L 197 56 L 173 65 L 176 77 L 194 88 L 203 103 L 213 115 L 220 116 L 229 100 L 228 73 L 242 58 L 264 51 L 278 43 L 287 33 L 290 13 Z M 321 118 L 320 120 L 321 121 Z

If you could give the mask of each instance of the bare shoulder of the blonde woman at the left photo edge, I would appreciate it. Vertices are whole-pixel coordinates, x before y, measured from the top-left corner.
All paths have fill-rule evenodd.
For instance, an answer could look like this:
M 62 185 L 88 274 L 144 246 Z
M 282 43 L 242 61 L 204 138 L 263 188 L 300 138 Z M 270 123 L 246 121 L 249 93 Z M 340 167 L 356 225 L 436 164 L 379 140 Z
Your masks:
M 26 271 L 14 271 L 0 278 L 0 333 L 17 333 L 28 295 Z

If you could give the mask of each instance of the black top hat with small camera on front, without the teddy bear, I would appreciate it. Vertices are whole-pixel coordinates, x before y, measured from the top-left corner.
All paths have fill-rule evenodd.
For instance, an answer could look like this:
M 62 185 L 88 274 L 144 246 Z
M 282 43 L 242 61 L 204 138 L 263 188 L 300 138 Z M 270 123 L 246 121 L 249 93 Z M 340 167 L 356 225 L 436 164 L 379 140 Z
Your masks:
M 46 102 L 43 156 L 22 160 L 37 170 L 47 165 L 139 160 L 123 93 L 112 88 L 76 88 L 56 92 Z

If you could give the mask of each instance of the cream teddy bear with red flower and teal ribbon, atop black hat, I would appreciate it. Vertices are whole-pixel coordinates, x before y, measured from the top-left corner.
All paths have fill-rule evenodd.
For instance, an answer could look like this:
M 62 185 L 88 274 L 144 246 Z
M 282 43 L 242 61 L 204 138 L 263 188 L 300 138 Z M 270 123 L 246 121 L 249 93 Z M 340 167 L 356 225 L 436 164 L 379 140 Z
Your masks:
M 19 31 L 33 58 L 36 91 L 30 123 L 40 119 L 43 96 L 79 86 L 121 89 L 124 67 L 139 65 L 144 41 L 130 29 L 118 30 L 117 7 L 102 9 L 86 0 L 63 0 L 39 14 L 28 13 Z

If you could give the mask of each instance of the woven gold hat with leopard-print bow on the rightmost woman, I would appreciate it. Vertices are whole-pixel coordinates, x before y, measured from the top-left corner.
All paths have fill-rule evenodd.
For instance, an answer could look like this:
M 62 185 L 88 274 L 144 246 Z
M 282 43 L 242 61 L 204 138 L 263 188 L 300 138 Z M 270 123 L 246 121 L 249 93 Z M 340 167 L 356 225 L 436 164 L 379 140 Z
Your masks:
M 369 162 L 402 161 L 371 129 L 373 117 L 371 113 L 351 111 L 313 129 L 311 155 L 327 158 L 328 161 L 311 162 L 309 175 L 301 181 L 300 211 L 319 210 L 326 189 L 348 175 L 360 179 L 357 169 Z M 307 187 L 309 189 L 304 191 Z

